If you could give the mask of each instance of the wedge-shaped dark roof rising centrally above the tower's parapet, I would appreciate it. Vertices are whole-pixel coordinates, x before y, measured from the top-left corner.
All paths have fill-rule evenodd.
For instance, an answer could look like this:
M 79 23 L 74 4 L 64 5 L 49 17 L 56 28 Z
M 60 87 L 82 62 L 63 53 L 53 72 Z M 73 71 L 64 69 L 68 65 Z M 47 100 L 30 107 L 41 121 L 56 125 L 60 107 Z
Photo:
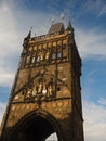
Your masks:
M 54 34 L 63 34 L 64 33 L 64 24 L 62 22 L 53 24 L 50 29 L 48 35 L 54 35 Z

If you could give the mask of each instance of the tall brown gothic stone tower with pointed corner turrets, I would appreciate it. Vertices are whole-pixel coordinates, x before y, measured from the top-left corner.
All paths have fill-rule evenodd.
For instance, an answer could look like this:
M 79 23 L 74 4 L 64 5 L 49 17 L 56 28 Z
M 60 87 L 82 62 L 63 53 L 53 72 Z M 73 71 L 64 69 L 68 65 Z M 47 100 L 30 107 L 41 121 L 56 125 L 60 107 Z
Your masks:
M 1 125 L 1 141 L 83 141 L 81 59 L 74 28 L 52 24 L 47 35 L 24 39 Z

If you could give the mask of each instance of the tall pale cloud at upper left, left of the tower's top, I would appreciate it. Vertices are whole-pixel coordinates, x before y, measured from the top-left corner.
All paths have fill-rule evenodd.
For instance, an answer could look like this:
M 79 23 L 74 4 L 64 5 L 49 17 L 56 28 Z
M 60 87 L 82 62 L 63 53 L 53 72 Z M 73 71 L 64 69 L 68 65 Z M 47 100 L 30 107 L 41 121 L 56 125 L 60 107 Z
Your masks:
M 0 57 L 16 52 L 14 46 L 17 43 L 17 37 L 13 12 L 6 3 L 3 3 L 0 5 L 0 49 L 2 50 Z

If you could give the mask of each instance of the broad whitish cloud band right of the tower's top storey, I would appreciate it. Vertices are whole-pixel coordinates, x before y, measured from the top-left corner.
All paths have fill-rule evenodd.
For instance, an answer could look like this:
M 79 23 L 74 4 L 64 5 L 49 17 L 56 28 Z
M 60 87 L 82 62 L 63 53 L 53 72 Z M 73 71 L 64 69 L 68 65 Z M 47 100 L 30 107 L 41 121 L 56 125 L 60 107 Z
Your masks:
M 76 28 L 75 37 L 82 57 L 106 56 L 106 34 Z

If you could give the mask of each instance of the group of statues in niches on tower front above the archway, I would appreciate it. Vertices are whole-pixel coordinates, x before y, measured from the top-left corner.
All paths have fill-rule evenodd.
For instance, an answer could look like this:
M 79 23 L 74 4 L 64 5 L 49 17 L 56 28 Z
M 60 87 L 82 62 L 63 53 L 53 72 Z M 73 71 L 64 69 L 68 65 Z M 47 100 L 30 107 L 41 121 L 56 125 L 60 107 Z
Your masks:
M 54 98 L 55 84 L 52 77 L 45 79 L 44 75 L 31 80 L 23 90 L 25 101 Z

